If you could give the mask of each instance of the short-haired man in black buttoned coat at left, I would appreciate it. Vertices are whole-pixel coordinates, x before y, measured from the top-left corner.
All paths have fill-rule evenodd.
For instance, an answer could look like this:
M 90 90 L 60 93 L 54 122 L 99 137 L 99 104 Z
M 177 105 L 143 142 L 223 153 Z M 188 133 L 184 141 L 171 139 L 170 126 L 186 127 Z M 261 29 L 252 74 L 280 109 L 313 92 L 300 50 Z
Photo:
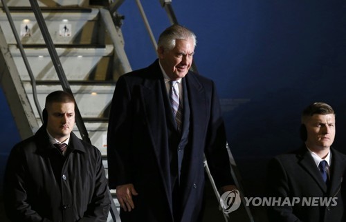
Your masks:
M 10 221 L 107 221 L 110 208 L 101 153 L 72 132 L 75 100 L 64 91 L 46 97 L 44 124 L 12 148 L 4 205 Z

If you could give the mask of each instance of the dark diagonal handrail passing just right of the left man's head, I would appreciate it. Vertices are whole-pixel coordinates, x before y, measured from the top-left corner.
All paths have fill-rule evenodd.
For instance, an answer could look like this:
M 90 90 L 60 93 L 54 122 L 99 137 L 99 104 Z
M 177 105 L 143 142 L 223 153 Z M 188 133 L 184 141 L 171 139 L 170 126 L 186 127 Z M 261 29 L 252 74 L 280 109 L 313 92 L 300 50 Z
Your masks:
M 42 32 L 44 41 L 46 42 L 48 52 L 51 55 L 51 59 L 55 67 L 55 71 L 57 72 L 57 77 L 59 77 L 60 83 L 62 83 L 62 89 L 65 92 L 69 92 L 73 96 L 72 90 L 69 85 L 69 81 L 67 81 L 67 78 L 64 72 L 64 68 L 62 68 L 62 64 L 60 63 L 59 56 L 57 54 L 57 51 L 55 50 L 53 40 L 51 38 L 51 35 L 48 32 L 46 23 L 44 22 L 44 17 L 42 15 L 41 9 L 39 8 L 39 4 L 35 0 L 29 0 L 29 1 L 30 1 L 31 8 L 33 9 L 33 12 L 35 14 L 37 23 L 39 25 L 39 29 Z M 75 103 L 75 123 L 78 127 L 78 130 L 80 131 L 80 136 L 82 137 L 82 139 L 86 141 L 87 143 L 91 143 L 89 139 L 88 131 L 86 130 L 86 127 L 84 125 L 82 115 L 80 114 L 80 110 L 78 109 L 77 103 Z

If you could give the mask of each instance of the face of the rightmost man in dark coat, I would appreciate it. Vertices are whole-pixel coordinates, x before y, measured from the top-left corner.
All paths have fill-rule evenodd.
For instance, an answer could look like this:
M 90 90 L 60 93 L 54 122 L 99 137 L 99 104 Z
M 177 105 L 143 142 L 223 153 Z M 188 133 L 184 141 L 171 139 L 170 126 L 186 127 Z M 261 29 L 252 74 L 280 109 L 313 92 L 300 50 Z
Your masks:
M 334 142 L 335 115 L 314 114 L 304 123 L 307 127 L 307 147 L 311 150 L 328 149 Z

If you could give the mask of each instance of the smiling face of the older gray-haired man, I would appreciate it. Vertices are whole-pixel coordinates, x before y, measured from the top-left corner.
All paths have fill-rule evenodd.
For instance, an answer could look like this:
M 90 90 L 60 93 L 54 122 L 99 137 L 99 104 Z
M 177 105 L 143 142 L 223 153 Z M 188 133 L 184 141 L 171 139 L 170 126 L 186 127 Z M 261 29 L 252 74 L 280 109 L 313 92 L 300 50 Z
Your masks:
M 158 48 L 158 58 L 171 80 L 185 77 L 191 67 L 194 54 L 194 41 L 192 39 L 176 39 L 176 45 L 172 50 Z

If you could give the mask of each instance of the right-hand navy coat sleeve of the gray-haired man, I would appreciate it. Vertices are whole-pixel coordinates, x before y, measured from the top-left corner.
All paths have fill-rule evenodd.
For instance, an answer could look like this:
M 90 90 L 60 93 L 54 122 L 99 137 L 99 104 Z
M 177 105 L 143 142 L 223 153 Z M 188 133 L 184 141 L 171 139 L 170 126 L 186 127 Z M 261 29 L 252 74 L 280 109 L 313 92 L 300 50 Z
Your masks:
M 233 185 L 234 181 L 230 173 L 230 161 L 226 148 L 226 130 L 222 117 L 219 97 L 212 82 L 210 96 L 210 120 L 208 121 L 208 132 L 206 141 L 206 159 L 217 188 L 224 185 Z M 208 105 L 208 104 L 207 104 Z

